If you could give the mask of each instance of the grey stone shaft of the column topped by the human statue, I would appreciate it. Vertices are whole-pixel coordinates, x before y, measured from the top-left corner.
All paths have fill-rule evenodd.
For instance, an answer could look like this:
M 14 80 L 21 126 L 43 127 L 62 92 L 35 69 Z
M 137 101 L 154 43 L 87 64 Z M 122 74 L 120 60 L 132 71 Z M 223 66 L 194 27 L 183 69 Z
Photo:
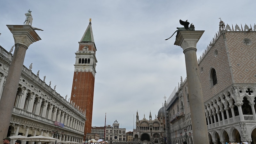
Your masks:
M 0 101 L 0 137 L 6 137 L 12 117 L 13 105 L 15 102 L 17 89 L 20 81 L 20 74 L 28 47 L 25 44 L 15 44 L 15 51 L 12 63 L 6 77 L 3 96 Z

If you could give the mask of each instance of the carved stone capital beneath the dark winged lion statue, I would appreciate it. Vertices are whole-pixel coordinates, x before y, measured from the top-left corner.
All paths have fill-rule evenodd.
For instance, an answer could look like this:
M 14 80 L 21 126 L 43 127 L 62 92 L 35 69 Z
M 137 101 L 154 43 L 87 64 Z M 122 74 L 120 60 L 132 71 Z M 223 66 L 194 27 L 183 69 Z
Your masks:
M 179 31 L 174 45 L 179 45 L 183 52 L 187 48 L 193 48 L 196 50 L 196 43 L 200 39 L 200 37 L 203 35 L 204 30 L 185 30 L 185 31 Z

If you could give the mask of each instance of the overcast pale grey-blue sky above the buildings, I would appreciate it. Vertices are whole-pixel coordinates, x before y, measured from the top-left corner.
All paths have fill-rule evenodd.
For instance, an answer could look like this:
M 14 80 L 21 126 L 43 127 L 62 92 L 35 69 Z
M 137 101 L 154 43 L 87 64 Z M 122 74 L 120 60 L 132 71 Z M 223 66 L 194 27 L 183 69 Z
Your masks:
M 255 21 L 254 0 L 3 0 L 0 2 L 0 45 L 9 51 L 14 45 L 6 25 L 23 25 L 30 9 L 33 27 L 42 40 L 31 44 L 24 65 L 33 63 L 41 79 L 56 86 L 56 92 L 70 98 L 75 52 L 92 18 L 97 48 L 92 126 L 112 125 L 115 120 L 126 132 L 139 118 L 153 119 L 175 87 L 186 77 L 182 48 L 174 45 L 179 20 L 188 20 L 195 30 L 205 30 L 197 43 L 202 55 L 221 18 L 225 24 Z M 13 53 L 13 52 L 12 52 Z M 67 98 L 67 100 L 68 100 Z

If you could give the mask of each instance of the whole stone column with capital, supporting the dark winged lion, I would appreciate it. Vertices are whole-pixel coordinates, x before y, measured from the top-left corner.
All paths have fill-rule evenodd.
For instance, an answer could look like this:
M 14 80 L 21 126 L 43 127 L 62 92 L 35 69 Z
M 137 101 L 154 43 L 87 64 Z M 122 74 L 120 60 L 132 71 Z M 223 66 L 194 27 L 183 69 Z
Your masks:
M 193 141 L 195 144 L 209 142 L 203 92 L 199 81 L 199 68 L 196 57 L 196 44 L 203 33 L 204 31 L 179 31 L 174 43 L 179 45 L 185 54 Z

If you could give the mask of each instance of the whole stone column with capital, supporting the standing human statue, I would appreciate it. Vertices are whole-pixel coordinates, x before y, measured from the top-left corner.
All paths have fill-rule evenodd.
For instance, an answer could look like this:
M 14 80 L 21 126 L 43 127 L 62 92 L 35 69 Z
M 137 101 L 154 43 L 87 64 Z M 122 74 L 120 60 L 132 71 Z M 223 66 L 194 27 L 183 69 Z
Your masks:
M 15 50 L 0 101 L 1 138 L 7 135 L 6 132 L 11 121 L 13 105 L 15 103 L 21 70 L 28 46 L 33 42 L 41 40 L 30 25 L 7 25 L 7 27 L 12 32 Z

